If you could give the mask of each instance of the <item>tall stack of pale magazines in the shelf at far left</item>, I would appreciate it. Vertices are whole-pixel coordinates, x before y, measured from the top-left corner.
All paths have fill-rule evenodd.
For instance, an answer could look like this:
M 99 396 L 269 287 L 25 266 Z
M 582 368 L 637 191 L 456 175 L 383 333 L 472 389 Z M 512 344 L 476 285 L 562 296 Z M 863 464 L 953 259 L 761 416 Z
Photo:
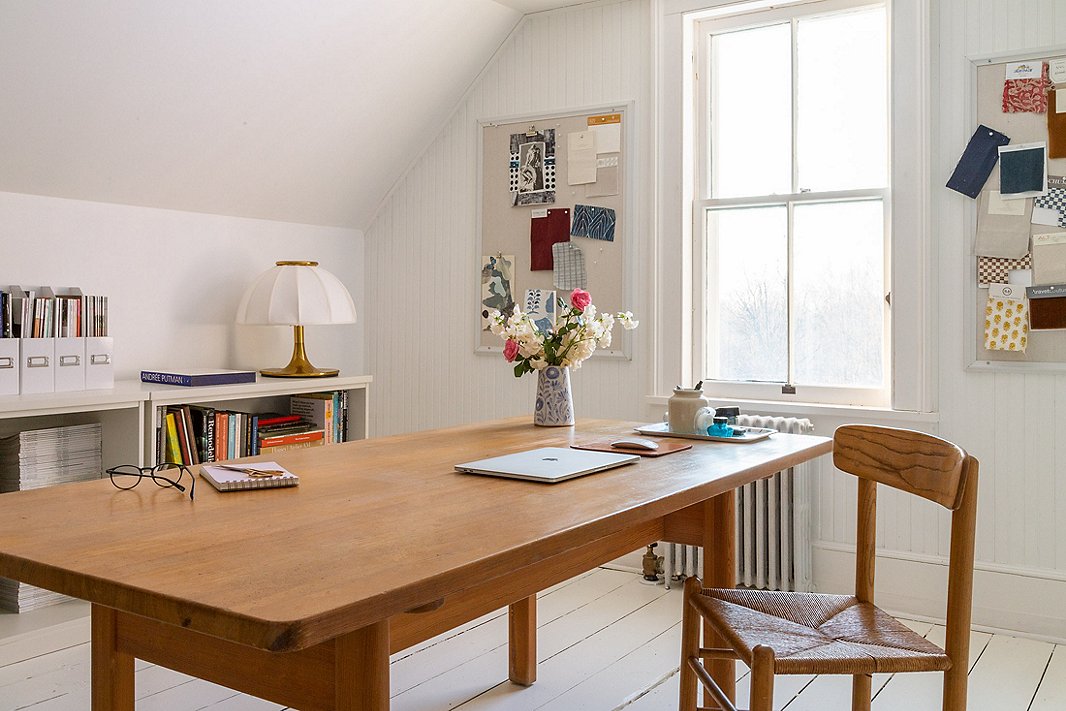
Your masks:
M 28 430 L 0 438 L 0 492 L 35 489 L 102 476 L 99 423 Z M 0 578 L 0 609 L 25 612 L 66 596 Z

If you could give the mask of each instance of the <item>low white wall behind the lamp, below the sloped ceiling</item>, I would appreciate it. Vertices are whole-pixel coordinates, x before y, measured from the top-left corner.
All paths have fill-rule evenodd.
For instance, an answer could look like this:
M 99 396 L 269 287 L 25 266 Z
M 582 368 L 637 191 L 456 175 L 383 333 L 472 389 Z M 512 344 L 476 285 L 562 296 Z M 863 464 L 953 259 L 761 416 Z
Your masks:
M 318 260 L 362 320 L 358 230 L 0 193 L 0 285 L 107 295 L 119 378 L 287 363 L 291 328 L 233 323 L 244 289 L 278 259 Z M 316 365 L 364 372 L 361 323 L 308 327 L 306 341 Z

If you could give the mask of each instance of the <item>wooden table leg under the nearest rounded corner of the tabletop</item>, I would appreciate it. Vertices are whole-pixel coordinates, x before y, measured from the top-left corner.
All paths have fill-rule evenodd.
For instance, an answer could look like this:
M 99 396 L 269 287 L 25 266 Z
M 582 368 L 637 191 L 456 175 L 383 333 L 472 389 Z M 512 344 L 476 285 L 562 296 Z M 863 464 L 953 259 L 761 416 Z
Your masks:
M 335 645 L 336 711 L 388 711 L 389 620 L 349 632 Z

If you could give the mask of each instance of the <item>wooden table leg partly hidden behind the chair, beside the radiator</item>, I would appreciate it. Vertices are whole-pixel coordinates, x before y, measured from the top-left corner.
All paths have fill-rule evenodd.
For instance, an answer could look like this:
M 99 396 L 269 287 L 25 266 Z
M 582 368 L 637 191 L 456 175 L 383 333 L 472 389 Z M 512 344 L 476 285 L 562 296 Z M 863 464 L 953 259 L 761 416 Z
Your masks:
M 704 585 L 707 587 L 737 586 L 737 492 L 721 494 L 704 504 Z M 725 640 L 714 634 L 704 624 L 704 646 L 724 647 Z M 707 670 L 725 692 L 737 702 L 737 663 L 731 659 L 707 662 Z M 704 705 L 713 704 L 704 695 Z M 711 707 L 714 708 L 714 707 Z

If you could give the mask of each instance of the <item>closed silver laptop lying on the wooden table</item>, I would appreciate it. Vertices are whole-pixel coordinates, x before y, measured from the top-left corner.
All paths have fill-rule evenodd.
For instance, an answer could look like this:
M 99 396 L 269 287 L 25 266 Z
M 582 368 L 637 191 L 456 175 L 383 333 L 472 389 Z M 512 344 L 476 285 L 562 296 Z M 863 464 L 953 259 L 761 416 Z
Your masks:
M 567 479 L 584 476 L 595 471 L 632 464 L 640 458 L 639 454 L 614 454 L 613 452 L 544 447 L 528 452 L 516 452 L 515 454 L 457 464 L 455 470 L 470 474 L 554 484 L 555 482 L 565 482 Z

